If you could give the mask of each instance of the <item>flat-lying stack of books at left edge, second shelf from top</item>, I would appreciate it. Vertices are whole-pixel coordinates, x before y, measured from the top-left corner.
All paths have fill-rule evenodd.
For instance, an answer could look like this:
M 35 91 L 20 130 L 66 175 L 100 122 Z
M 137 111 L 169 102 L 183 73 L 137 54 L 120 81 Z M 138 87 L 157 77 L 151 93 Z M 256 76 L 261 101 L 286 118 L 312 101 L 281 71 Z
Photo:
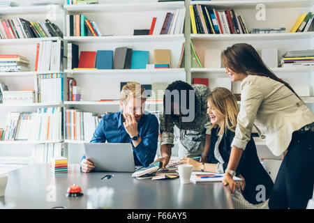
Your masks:
M 0 72 L 29 71 L 29 59 L 20 55 L 0 55 Z

